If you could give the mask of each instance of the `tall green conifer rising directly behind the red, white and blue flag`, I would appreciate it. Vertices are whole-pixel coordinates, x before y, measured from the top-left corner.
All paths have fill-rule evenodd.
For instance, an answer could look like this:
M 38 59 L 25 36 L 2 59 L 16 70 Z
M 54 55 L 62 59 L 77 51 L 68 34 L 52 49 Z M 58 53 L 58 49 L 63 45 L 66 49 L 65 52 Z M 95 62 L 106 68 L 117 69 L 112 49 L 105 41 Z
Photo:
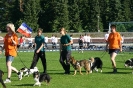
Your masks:
M 39 27 L 38 14 L 41 10 L 40 0 L 24 0 L 23 3 L 23 18 L 21 18 L 19 22 L 25 22 L 33 29 L 33 32 L 35 32 Z

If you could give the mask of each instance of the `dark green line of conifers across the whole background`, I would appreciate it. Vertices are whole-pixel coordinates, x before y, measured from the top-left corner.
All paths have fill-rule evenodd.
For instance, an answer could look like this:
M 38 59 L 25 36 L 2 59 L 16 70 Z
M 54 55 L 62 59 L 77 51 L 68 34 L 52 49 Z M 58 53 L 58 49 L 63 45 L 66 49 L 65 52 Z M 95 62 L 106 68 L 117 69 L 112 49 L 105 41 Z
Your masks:
M 109 28 L 110 22 L 133 20 L 133 0 L 0 0 L 0 30 L 7 23 L 16 30 L 27 23 L 33 32 L 98 32 Z M 128 31 L 132 24 L 119 24 L 119 31 Z

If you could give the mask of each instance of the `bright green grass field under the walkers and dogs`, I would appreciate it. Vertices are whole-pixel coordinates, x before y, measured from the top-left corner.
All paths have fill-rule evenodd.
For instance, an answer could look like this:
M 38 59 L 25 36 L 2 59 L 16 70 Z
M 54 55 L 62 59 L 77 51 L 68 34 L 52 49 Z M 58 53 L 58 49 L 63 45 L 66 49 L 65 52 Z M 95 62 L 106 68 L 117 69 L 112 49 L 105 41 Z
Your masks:
M 77 51 L 72 52 L 77 60 L 88 59 L 89 57 L 102 57 L 103 51 L 84 51 L 84 53 L 78 53 Z M 24 67 L 23 63 L 30 67 L 33 52 L 19 52 L 13 62 L 13 66 L 17 69 Z M 109 55 L 106 53 L 101 59 L 103 61 L 103 72 L 86 75 L 85 70 L 83 70 L 84 75 L 77 73 L 73 76 L 74 69 L 71 66 L 71 74 L 63 75 L 63 69 L 59 63 L 59 52 L 46 52 L 47 59 L 47 72 L 52 77 L 49 86 L 45 82 L 42 83 L 41 87 L 33 87 L 34 79 L 32 75 L 30 77 L 23 77 L 21 81 L 18 80 L 16 73 L 12 73 L 11 83 L 6 84 L 7 88 L 131 88 L 133 74 L 131 68 L 124 67 L 124 61 L 131 58 L 133 55 L 129 52 L 121 53 L 116 57 L 118 73 L 112 74 L 111 62 Z M 42 72 L 42 64 L 39 60 L 37 67 L 40 72 Z M 6 79 L 7 71 L 5 65 L 5 57 L 0 59 L 0 69 L 5 72 L 3 79 Z M 2 88 L 2 85 L 0 85 Z

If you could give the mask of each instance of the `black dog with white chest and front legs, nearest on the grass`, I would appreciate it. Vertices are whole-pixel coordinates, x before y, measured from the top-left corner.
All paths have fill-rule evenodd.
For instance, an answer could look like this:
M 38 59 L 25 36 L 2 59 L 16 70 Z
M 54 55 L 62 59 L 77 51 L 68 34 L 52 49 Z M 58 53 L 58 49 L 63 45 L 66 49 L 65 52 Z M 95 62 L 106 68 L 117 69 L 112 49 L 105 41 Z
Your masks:
M 51 77 L 47 73 L 40 74 L 39 72 L 33 73 L 35 84 L 33 86 L 41 86 L 41 82 L 45 81 L 46 85 L 49 84 Z

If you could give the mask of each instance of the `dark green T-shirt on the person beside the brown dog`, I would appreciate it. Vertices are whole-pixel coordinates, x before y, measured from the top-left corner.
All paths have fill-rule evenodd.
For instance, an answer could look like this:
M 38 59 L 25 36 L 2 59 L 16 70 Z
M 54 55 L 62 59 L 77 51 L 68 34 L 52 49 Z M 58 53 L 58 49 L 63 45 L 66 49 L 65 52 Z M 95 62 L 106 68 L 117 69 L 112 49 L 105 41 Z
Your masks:
M 60 38 L 61 44 L 68 44 L 71 41 L 71 37 L 69 35 L 63 35 Z M 71 45 L 68 46 L 62 46 L 62 50 L 71 50 Z

